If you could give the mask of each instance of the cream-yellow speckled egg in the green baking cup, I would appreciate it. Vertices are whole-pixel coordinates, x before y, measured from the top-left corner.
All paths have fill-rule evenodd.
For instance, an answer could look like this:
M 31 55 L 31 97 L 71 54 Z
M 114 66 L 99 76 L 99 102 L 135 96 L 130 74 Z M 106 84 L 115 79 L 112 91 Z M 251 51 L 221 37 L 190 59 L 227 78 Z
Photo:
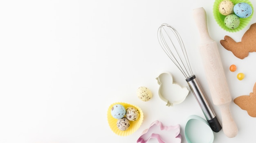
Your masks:
M 219 12 L 222 15 L 232 14 L 235 4 L 230 0 L 222 0 L 219 4 Z

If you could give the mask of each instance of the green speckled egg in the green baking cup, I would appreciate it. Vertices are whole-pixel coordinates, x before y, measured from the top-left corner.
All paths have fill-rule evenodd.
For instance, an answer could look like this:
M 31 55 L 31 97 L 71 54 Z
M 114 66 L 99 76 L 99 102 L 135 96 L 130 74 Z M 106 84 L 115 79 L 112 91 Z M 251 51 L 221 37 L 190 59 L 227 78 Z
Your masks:
M 235 28 L 238 28 L 240 24 L 240 19 L 235 14 L 230 14 L 225 17 L 224 24 L 229 29 L 235 29 Z

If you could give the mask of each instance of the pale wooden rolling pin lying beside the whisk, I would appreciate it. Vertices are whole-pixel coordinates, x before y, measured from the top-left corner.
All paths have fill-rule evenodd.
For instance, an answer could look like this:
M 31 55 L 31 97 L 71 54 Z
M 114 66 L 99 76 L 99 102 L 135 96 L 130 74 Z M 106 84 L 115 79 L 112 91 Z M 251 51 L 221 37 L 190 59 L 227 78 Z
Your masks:
M 223 132 L 227 137 L 236 137 L 238 129 L 229 109 L 231 95 L 220 59 L 218 45 L 209 36 L 207 15 L 204 8 L 194 9 L 193 17 L 201 37 L 199 51 L 211 92 L 211 98 L 213 104 L 218 106 L 221 111 Z

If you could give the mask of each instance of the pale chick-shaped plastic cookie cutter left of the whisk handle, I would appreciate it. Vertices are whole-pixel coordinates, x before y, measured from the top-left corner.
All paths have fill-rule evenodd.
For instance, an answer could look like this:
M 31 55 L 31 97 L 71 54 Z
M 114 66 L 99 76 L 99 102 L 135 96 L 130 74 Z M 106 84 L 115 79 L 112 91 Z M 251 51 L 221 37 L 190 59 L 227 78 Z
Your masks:
M 173 82 L 173 76 L 170 72 L 163 72 L 157 78 L 159 85 L 158 95 L 166 102 L 166 106 L 180 104 L 189 94 L 189 87 L 182 87 L 180 84 Z

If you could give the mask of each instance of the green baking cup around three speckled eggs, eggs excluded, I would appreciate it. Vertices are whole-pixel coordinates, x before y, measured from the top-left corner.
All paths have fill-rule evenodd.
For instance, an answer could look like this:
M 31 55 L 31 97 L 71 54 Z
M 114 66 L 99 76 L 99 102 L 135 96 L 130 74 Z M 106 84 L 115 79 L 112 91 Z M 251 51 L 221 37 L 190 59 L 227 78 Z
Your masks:
M 235 29 L 229 29 L 229 28 L 227 28 L 227 26 L 225 26 L 224 19 L 225 19 L 226 16 L 220 14 L 220 12 L 219 12 L 219 4 L 220 4 L 221 1 L 222 0 L 215 0 L 215 2 L 213 4 L 213 16 L 214 16 L 216 22 L 218 23 L 218 25 L 222 29 L 224 29 L 228 32 L 238 32 L 238 31 L 242 30 L 243 28 L 245 28 L 245 26 L 247 26 L 249 24 L 249 22 L 252 19 L 253 13 L 254 13 L 252 3 L 249 0 L 231 0 L 231 2 L 233 2 L 235 5 L 237 3 L 240 3 L 240 2 L 246 2 L 247 4 L 249 4 L 252 7 L 252 15 L 250 15 L 247 18 L 239 18 L 240 19 L 240 25 Z

